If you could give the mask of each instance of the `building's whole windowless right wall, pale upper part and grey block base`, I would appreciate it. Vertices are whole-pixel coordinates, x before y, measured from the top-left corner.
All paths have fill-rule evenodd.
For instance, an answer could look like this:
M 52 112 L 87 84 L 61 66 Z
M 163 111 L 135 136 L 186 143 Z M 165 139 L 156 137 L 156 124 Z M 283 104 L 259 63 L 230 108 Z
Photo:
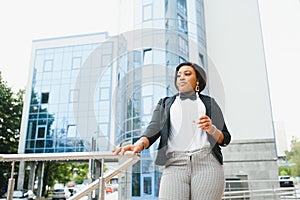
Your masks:
M 219 102 L 232 134 L 232 143 L 223 148 L 225 175 L 277 180 L 258 2 L 204 0 L 204 5 L 209 92 Z M 253 182 L 249 188 L 270 189 L 272 184 Z

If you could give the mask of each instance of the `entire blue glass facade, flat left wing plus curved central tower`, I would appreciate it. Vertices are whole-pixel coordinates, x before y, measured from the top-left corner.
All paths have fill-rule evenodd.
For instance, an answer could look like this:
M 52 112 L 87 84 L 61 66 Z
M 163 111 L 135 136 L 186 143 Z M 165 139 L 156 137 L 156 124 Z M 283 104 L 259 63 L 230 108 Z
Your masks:
M 186 0 L 132 1 L 140 7 L 133 8 L 136 29 L 158 30 L 35 49 L 26 153 L 103 151 L 134 143 L 159 99 L 177 92 L 175 66 L 189 60 L 205 68 L 202 0 L 192 10 Z M 121 199 L 157 199 L 162 174 L 154 164 L 157 145 L 119 176 Z

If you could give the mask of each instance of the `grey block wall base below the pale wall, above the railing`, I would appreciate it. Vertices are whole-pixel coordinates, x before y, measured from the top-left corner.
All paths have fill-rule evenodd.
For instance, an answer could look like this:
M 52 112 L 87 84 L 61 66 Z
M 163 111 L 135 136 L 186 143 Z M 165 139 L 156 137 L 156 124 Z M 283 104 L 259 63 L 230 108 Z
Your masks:
M 235 140 L 223 148 L 225 174 L 248 175 L 252 179 L 269 179 L 276 177 L 277 166 L 274 141 Z

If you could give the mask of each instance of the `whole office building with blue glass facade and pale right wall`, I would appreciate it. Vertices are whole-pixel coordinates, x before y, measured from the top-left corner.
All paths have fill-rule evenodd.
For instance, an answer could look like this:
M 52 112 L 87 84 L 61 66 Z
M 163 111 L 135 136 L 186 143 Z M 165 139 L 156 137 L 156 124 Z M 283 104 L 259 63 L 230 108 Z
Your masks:
M 276 179 L 258 3 L 119 3 L 118 35 L 33 42 L 19 152 L 90 151 L 92 138 L 99 151 L 135 142 L 158 100 L 176 93 L 175 66 L 192 61 L 207 72 L 204 93 L 216 98 L 232 134 L 223 149 L 226 177 Z M 157 198 L 162 169 L 154 165 L 156 147 L 119 176 L 120 199 Z

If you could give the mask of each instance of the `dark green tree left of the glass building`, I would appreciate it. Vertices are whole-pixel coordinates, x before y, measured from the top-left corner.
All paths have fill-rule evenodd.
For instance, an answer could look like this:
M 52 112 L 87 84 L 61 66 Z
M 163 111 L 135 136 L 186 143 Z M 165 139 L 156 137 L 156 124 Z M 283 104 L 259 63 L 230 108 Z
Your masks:
M 16 94 L 0 72 L 0 153 L 17 153 L 23 108 L 24 90 Z M 7 188 L 10 163 L 0 163 L 0 194 Z

